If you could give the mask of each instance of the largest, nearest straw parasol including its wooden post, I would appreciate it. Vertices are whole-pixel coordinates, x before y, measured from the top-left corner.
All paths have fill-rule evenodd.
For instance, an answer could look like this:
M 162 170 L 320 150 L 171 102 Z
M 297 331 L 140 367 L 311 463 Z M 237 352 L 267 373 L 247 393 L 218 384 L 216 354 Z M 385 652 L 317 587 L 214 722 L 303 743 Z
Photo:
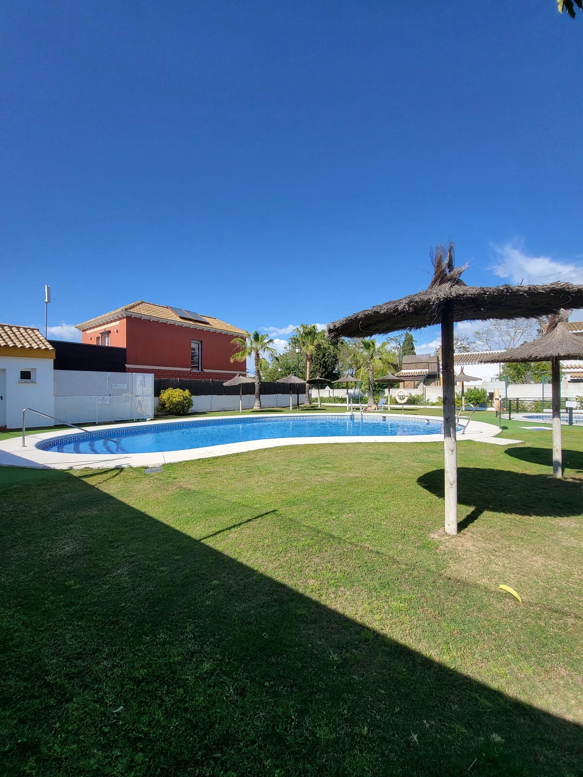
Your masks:
M 331 337 L 368 337 L 399 329 L 422 329 L 441 323 L 443 433 L 445 459 L 445 533 L 457 533 L 456 392 L 453 375 L 453 325 L 456 321 L 535 318 L 583 307 L 583 285 L 554 283 L 524 286 L 466 286 L 465 267 L 455 267 L 453 244 L 437 246 L 433 277 L 425 291 L 375 305 L 328 325 Z

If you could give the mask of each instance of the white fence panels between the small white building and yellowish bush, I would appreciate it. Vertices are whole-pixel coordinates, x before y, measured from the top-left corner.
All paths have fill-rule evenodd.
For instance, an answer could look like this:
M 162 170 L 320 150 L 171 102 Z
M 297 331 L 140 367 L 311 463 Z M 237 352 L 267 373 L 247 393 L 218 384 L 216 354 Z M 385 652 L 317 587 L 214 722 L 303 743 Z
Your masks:
M 134 372 L 54 371 L 54 415 L 67 423 L 154 416 L 154 376 Z

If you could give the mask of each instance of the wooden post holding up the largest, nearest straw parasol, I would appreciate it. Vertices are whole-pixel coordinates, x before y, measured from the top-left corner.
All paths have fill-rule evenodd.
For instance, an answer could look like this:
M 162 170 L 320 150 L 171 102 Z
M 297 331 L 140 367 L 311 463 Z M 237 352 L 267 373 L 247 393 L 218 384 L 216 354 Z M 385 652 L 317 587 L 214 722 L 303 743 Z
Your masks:
M 445 534 L 458 533 L 458 463 L 456 385 L 453 381 L 453 303 L 442 307 L 443 437 L 445 465 Z

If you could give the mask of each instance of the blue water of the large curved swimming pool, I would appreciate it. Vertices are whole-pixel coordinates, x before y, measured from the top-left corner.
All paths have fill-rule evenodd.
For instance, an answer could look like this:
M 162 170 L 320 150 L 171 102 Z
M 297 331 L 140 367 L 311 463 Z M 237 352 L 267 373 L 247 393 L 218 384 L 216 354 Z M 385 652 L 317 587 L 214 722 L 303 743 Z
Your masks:
M 167 422 L 75 434 L 41 442 L 55 453 L 113 454 L 183 451 L 278 437 L 393 437 L 439 434 L 441 420 L 414 416 L 279 416 Z

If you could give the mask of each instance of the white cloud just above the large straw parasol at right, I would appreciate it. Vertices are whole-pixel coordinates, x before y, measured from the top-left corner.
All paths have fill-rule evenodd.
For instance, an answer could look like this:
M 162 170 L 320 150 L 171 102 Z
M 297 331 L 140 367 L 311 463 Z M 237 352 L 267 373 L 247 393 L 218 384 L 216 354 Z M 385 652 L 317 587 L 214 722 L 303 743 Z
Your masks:
M 505 246 L 492 246 L 497 256 L 494 274 L 509 278 L 513 284 L 524 280 L 525 284 L 548 284 L 566 280 L 572 284 L 583 283 L 583 265 L 561 262 L 550 256 L 529 256 L 521 242 L 508 242 Z

